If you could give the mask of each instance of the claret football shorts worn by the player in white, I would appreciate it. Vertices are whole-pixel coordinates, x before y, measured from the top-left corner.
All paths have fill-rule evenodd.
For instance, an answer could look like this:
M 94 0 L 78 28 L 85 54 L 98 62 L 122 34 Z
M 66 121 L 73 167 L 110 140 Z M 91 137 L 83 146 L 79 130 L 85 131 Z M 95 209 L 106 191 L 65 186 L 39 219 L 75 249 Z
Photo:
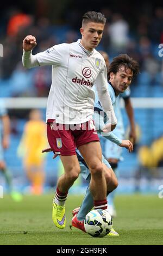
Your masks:
M 89 120 L 82 124 L 57 124 L 47 120 L 47 138 L 55 154 L 61 156 L 76 155 L 76 148 L 92 141 L 99 141 L 95 124 Z

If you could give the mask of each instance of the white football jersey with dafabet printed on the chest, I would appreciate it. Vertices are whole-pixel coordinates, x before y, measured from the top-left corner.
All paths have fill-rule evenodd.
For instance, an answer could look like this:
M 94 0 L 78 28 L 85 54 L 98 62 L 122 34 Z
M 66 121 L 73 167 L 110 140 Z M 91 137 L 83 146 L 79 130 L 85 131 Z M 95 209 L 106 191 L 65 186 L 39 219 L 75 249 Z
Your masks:
M 52 65 L 52 86 L 47 102 L 47 119 L 60 124 L 80 124 L 91 120 L 95 93 L 107 90 L 106 66 L 102 55 L 85 50 L 80 39 L 55 45 L 36 55 L 39 65 Z

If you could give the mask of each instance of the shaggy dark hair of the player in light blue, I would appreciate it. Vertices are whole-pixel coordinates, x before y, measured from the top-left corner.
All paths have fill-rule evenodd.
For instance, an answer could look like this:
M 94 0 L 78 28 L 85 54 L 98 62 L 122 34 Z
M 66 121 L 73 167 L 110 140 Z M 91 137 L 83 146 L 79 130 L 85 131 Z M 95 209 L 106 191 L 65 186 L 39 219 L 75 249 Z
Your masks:
M 108 79 L 110 79 L 110 73 L 113 72 L 116 74 L 118 70 L 124 66 L 125 69 L 130 69 L 133 71 L 133 77 L 139 73 L 139 63 L 136 62 L 133 58 L 129 57 L 128 54 L 120 54 L 115 57 L 110 63 L 108 70 Z

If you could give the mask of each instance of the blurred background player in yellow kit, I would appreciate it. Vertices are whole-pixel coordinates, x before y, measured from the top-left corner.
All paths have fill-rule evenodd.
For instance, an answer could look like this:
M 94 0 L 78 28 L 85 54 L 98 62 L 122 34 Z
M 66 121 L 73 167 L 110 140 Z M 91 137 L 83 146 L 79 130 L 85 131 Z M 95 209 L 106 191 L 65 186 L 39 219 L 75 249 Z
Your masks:
M 23 157 L 24 169 L 34 194 L 41 194 L 43 191 L 45 157 L 41 154 L 41 149 L 46 146 L 46 125 L 42 120 L 41 112 L 33 109 L 29 113 L 29 121 L 24 126 L 18 155 Z

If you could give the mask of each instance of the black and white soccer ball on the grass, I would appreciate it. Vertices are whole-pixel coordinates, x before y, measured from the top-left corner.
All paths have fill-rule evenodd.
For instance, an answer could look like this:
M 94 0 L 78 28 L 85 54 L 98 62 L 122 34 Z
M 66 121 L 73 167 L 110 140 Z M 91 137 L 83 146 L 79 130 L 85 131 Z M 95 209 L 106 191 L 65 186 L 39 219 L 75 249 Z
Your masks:
M 92 210 L 85 217 L 84 228 L 93 237 L 103 237 L 112 229 L 112 218 L 106 210 Z

